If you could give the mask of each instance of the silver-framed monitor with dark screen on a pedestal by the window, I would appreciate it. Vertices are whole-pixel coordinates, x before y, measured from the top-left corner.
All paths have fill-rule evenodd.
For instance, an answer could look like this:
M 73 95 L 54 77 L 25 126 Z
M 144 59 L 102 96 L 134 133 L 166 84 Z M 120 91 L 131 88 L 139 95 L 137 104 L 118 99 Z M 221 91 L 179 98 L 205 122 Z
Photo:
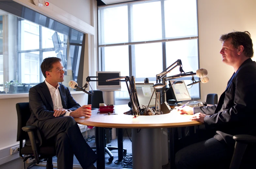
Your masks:
M 121 89 L 121 82 L 118 80 L 106 82 L 108 79 L 120 77 L 121 72 L 96 72 L 98 76 L 97 89 L 98 90 L 112 90 Z M 124 79 L 121 79 L 124 80 Z

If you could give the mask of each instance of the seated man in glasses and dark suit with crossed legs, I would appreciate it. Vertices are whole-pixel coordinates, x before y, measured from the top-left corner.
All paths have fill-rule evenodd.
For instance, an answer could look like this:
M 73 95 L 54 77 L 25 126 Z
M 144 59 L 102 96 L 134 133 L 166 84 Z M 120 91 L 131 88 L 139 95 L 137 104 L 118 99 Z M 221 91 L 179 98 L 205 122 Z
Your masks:
M 97 155 L 83 138 L 74 118 L 91 117 L 88 105 L 80 106 L 71 96 L 64 81 L 64 68 L 59 58 L 46 58 L 41 64 L 45 81 L 29 90 L 31 116 L 27 125 L 38 127 L 38 144 L 55 144 L 57 166 L 73 168 L 75 155 L 83 169 L 95 168 Z M 29 142 L 26 142 L 29 144 Z

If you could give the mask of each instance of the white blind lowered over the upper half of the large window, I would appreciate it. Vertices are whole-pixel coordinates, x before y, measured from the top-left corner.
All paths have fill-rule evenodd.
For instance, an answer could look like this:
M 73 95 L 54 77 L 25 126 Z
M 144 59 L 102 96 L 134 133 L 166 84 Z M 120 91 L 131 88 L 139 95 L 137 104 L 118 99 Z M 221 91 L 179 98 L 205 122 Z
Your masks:
M 153 0 L 98 7 L 98 44 L 198 39 L 196 0 Z

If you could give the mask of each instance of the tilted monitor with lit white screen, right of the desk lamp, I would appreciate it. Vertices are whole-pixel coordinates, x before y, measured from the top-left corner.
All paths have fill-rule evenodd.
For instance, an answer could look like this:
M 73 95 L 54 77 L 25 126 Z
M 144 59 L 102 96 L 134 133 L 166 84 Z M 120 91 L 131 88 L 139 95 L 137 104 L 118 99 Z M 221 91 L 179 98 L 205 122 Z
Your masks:
M 172 85 L 172 91 L 173 91 L 173 98 L 176 99 L 176 101 L 185 101 L 185 100 L 191 100 L 190 95 L 188 93 L 188 89 L 184 83 L 184 80 L 182 84 L 174 84 Z M 170 83 L 173 84 L 175 81 L 170 80 Z

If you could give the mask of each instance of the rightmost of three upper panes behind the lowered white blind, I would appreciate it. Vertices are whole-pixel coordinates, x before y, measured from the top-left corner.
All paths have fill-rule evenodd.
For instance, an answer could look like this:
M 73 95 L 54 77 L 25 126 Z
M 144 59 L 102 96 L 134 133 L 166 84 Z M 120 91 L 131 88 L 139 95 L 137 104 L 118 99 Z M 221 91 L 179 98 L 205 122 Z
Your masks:
M 197 36 L 196 0 L 164 1 L 165 36 Z

